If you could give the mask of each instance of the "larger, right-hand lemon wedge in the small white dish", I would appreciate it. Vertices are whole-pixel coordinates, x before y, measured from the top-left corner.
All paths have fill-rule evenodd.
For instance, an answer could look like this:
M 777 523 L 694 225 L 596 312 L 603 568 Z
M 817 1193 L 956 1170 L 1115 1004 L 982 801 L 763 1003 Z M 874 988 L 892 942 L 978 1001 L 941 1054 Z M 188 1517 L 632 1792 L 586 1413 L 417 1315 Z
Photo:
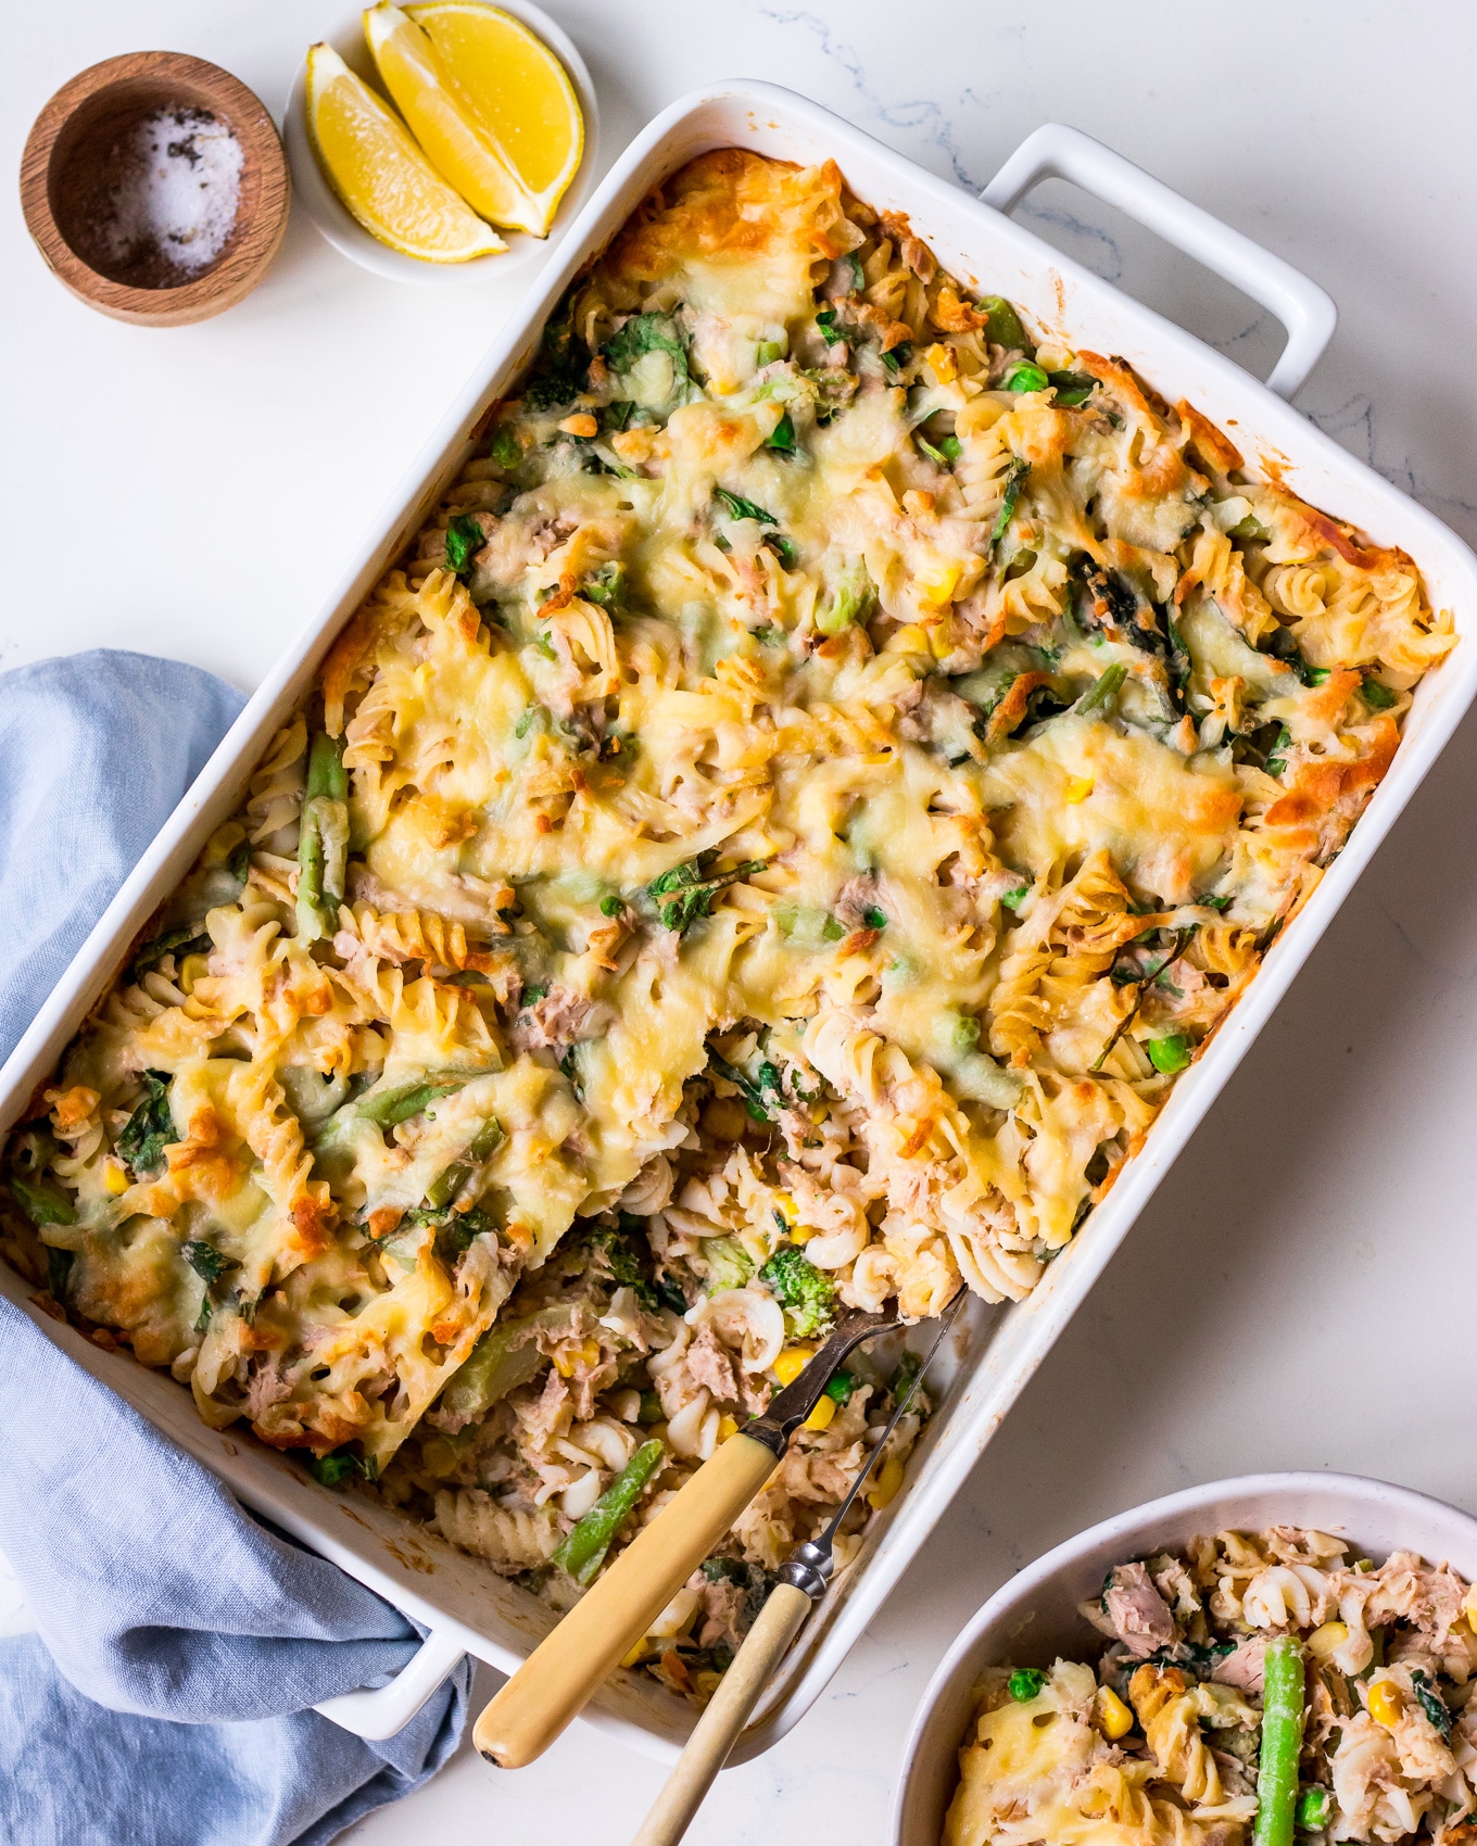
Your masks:
M 548 236 L 585 124 L 559 59 L 480 0 L 364 15 L 384 87 L 438 172 L 493 223 Z

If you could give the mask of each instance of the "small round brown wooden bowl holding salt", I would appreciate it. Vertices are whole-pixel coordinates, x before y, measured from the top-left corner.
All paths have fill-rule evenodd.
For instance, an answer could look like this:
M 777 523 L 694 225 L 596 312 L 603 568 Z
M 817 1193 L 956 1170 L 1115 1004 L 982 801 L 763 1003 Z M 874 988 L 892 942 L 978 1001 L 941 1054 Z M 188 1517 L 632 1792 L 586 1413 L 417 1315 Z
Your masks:
M 201 109 L 242 150 L 236 222 L 216 260 L 177 282 L 138 286 L 107 273 L 96 220 L 107 199 L 111 153 L 157 109 Z M 79 72 L 35 118 L 20 159 L 20 207 L 50 270 L 114 321 L 183 327 L 234 306 L 266 275 L 288 223 L 288 162 L 271 116 L 251 90 L 203 57 L 129 52 Z M 151 279 L 150 279 L 151 281 Z

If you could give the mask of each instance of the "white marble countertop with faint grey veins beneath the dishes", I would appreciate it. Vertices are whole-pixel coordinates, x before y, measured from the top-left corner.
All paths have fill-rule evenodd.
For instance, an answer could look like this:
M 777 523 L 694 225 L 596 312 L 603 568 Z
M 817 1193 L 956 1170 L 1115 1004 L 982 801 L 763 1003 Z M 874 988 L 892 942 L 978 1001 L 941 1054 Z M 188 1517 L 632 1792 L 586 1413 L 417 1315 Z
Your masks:
M 545 4 L 589 61 L 606 161 L 683 90 L 738 74 L 788 83 L 960 185 L 984 185 L 1043 120 L 1100 137 L 1335 295 L 1339 334 L 1302 408 L 1477 541 L 1475 9 Z M 210 57 L 281 109 L 308 39 L 342 13 L 332 0 L 17 9 L 0 168 L 17 170 L 59 83 L 140 46 Z M 1152 238 L 1060 185 L 1036 196 L 1034 222 L 1267 369 L 1257 310 Z M 294 214 L 249 301 L 144 332 L 52 281 L 13 186 L 0 251 L 0 666 L 109 644 L 253 687 L 515 295 L 378 281 Z M 1135 1501 L 1326 1466 L 1477 1510 L 1475 773 L 1470 722 L 910 1578 L 811 1717 L 722 1778 L 694 1842 L 879 1846 L 908 1717 L 964 1619 L 1028 1558 Z M 353 1839 L 618 1842 L 659 1781 L 576 1726 L 521 1774 L 463 1752 Z

